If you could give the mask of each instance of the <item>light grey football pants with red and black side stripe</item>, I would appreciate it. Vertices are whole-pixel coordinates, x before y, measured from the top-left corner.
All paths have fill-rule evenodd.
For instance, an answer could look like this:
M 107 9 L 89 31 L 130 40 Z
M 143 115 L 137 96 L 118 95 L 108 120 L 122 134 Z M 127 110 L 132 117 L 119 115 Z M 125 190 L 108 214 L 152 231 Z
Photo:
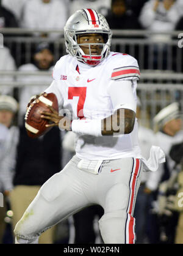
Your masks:
M 135 243 L 133 213 L 142 175 L 141 160 L 104 160 L 98 175 L 77 168 L 79 160 L 74 156 L 62 171 L 43 184 L 16 224 L 15 235 L 37 239 L 49 227 L 85 206 L 98 204 L 104 208 L 99 220 L 104 243 Z

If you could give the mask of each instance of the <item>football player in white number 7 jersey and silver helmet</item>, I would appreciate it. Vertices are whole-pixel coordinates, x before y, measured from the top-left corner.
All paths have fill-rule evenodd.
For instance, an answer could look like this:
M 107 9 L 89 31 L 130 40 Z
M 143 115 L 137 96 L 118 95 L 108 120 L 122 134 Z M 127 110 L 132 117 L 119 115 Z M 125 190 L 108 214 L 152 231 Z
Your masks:
M 132 244 L 143 169 L 135 118 L 138 63 L 110 52 L 112 32 L 95 10 L 77 10 L 64 31 L 68 55 L 57 61 L 45 91 L 56 94 L 59 113 L 50 107 L 52 113 L 41 118 L 76 133 L 76 155 L 43 184 L 16 224 L 15 243 L 38 243 L 48 228 L 82 208 L 101 205 L 104 243 Z

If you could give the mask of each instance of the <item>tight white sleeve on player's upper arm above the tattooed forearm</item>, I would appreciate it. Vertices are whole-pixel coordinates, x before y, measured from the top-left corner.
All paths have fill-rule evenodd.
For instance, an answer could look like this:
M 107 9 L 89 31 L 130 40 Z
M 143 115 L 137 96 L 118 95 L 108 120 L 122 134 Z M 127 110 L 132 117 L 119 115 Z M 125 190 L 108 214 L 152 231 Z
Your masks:
M 137 98 L 132 90 L 131 80 L 110 81 L 108 93 L 112 100 L 113 111 L 127 108 L 136 112 Z

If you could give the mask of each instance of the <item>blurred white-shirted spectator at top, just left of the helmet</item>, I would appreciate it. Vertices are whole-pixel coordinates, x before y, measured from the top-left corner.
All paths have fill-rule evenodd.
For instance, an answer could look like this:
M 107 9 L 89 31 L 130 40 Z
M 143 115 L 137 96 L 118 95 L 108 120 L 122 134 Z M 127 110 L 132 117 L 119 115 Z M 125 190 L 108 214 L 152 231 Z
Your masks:
M 68 1 L 29 0 L 24 5 L 21 26 L 30 29 L 59 29 L 63 31 L 68 18 Z M 58 33 L 41 36 L 58 37 Z

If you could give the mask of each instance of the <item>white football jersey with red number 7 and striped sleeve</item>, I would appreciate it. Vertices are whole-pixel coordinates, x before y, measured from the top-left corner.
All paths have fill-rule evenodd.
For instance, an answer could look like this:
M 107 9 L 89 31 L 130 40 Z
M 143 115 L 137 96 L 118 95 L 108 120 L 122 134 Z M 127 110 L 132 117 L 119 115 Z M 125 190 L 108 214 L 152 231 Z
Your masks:
M 72 119 L 103 119 L 120 108 L 119 102 L 117 102 L 118 106 L 115 105 L 109 93 L 114 81 L 119 85 L 121 80 L 131 80 L 136 103 L 139 77 L 137 60 L 130 55 L 110 52 L 109 56 L 95 67 L 87 66 L 76 58 L 65 55 L 57 61 L 53 70 L 55 81 L 46 92 L 56 94 L 59 110 L 62 108 L 70 110 Z M 113 93 L 119 98 L 119 92 L 117 90 L 115 92 L 115 88 Z M 123 99 L 122 96 L 121 98 Z M 121 108 L 128 100 L 126 97 L 120 102 Z M 136 119 L 134 130 L 131 134 L 125 135 L 94 137 L 77 134 L 76 155 L 90 160 L 140 158 L 137 126 Z

